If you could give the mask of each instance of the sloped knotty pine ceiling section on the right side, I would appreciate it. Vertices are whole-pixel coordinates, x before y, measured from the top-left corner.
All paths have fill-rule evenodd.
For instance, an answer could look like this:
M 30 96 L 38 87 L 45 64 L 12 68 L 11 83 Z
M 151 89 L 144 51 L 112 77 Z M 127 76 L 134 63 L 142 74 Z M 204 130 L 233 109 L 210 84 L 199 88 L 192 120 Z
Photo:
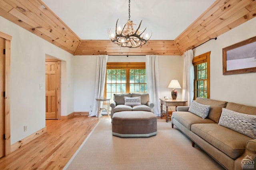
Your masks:
M 174 43 L 183 54 L 256 16 L 256 0 L 216 0 Z

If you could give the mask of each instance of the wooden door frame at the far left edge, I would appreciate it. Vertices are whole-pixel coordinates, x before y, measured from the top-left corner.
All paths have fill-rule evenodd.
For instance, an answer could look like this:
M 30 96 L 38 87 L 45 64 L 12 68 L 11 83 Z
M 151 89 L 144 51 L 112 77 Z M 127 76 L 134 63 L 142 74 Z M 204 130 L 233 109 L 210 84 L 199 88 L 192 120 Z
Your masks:
M 7 156 L 11 152 L 11 125 L 10 125 L 10 58 L 11 58 L 11 40 L 12 36 L 7 35 L 5 33 L 0 32 L 0 37 L 5 39 L 4 49 L 5 49 L 5 101 L 4 101 L 4 108 L 5 108 L 5 140 L 4 140 L 4 156 Z

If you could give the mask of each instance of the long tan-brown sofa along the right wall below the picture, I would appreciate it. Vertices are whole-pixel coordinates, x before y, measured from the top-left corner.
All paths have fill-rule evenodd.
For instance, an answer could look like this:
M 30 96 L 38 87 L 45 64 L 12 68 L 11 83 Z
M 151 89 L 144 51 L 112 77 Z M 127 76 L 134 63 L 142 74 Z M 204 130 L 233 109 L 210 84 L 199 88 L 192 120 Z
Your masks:
M 254 129 L 252 126 L 250 133 L 256 133 L 255 116 L 251 116 L 256 115 L 256 107 L 204 98 L 197 98 L 195 102 L 210 106 L 207 117 L 203 119 L 190 113 L 189 107 L 178 106 L 177 111 L 172 113 L 172 128 L 175 125 L 192 140 L 193 147 L 196 143 L 228 170 L 256 169 L 255 136 L 249 137 L 248 134 L 244 135 L 232 130 L 232 128 L 240 129 L 239 126 L 232 127 L 234 123 L 224 119 L 228 111 L 236 114 L 226 117 L 230 121 L 239 121 L 242 119 L 241 116 L 248 114 L 248 117 L 254 117 L 253 122 L 250 122 L 254 124 Z M 230 127 L 223 126 L 223 123 Z

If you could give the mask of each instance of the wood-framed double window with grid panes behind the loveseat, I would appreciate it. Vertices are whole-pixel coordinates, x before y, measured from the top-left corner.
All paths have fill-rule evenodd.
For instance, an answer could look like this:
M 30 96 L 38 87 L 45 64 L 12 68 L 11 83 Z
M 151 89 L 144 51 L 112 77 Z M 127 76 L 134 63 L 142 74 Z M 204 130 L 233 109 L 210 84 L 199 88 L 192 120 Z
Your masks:
M 114 94 L 147 93 L 145 63 L 107 63 L 104 97 Z

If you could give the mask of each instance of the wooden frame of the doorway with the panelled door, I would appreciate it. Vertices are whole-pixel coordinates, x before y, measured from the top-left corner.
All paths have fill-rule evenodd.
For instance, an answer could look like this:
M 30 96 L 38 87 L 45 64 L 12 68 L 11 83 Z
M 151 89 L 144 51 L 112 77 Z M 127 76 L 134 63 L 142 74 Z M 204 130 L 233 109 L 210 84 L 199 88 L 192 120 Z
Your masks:
M 61 108 L 61 98 L 60 98 L 60 94 L 61 94 L 61 89 L 60 89 L 60 82 L 61 82 L 61 80 L 60 80 L 60 74 L 61 74 L 61 72 L 60 72 L 60 70 L 61 70 L 61 68 L 60 68 L 60 66 L 61 66 L 61 61 L 60 60 L 58 60 L 58 59 L 45 59 L 45 62 L 57 62 L 58 63 L 58 68 L 57 68 L 57 71 L 56 71 L 56 79 L 57 79 L 57 81 L 56 81 L 56 108 L 57 108 L 57 110 L 56 110 L 56 112 L 57 112 L 57 119 L 59 119 L 60 120 L 60 108 Z

